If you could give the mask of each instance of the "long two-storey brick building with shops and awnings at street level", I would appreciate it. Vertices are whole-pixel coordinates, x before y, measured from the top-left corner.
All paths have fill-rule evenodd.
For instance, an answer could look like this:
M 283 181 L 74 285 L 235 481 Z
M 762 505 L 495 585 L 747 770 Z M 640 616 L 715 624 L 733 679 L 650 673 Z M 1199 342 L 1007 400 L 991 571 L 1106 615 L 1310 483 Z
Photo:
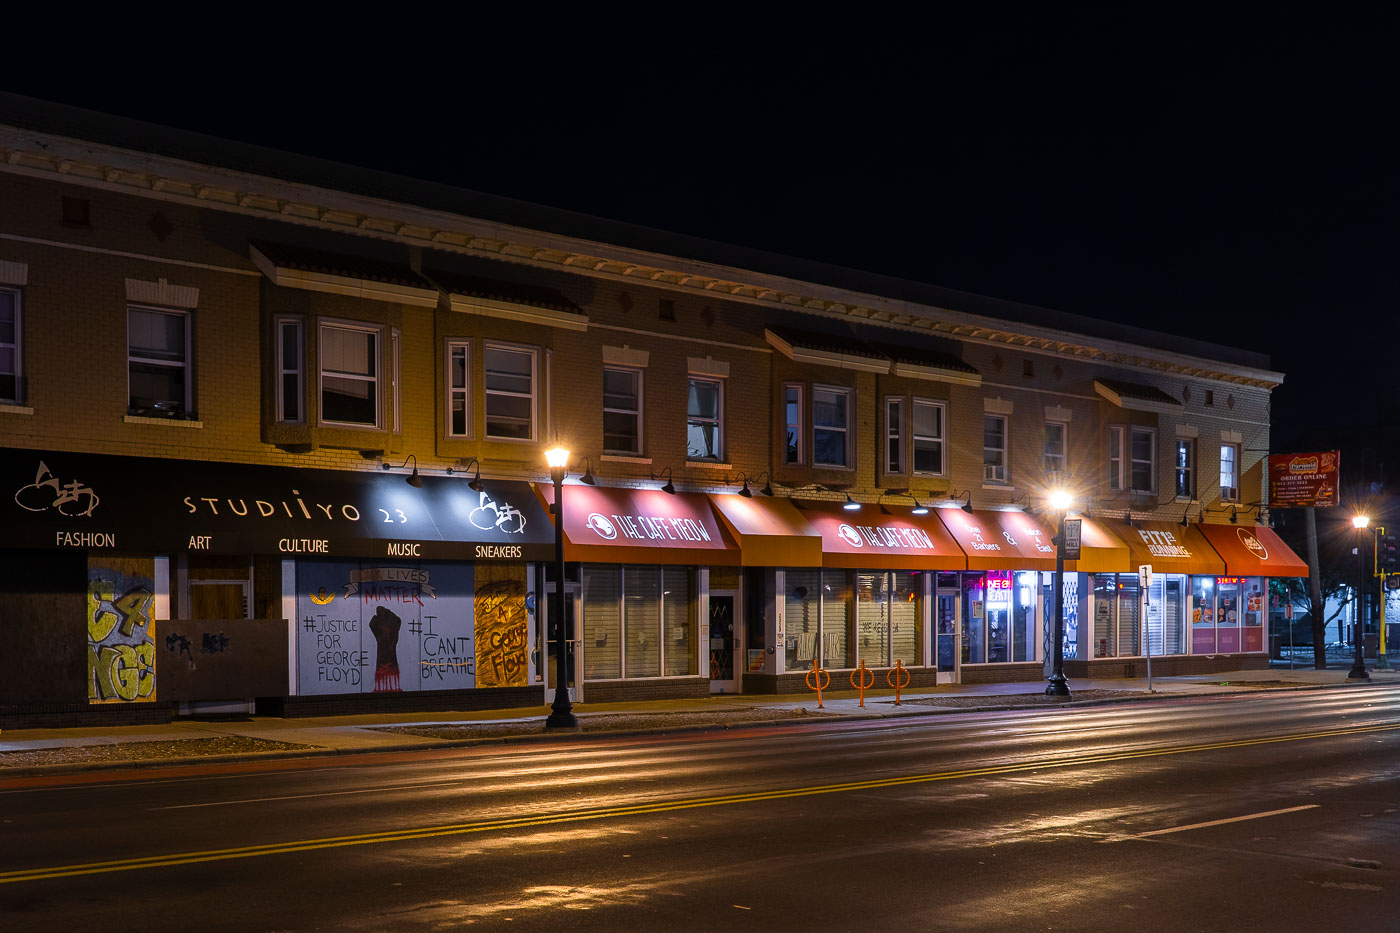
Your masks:
M 554 440 L 585 699 L 1039 679 L 1051 486 L 1071 677 L 1305 573 L 1254 353 L 22 98 L 0 203 L 11 721 L 542 699 Z

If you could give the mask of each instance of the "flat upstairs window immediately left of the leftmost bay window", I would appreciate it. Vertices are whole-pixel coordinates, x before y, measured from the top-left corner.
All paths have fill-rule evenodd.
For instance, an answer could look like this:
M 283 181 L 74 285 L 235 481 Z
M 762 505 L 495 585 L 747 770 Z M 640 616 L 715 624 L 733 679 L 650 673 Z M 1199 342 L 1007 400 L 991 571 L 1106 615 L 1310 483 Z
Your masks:
M 190 315 L 188 311 L 126 310 L 127 412 L 192 417 Z

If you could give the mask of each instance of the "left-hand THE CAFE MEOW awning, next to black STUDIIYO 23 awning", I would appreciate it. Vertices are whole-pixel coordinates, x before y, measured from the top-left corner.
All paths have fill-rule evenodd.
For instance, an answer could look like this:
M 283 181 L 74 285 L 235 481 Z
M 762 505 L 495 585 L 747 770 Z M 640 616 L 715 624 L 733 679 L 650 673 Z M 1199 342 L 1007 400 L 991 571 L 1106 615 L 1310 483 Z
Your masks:
M 554 488 L 535 490 L 553 503 Z M 587 563 L 735 566 L 734 545 L 700 493 L 564 486 L 564 559 Z

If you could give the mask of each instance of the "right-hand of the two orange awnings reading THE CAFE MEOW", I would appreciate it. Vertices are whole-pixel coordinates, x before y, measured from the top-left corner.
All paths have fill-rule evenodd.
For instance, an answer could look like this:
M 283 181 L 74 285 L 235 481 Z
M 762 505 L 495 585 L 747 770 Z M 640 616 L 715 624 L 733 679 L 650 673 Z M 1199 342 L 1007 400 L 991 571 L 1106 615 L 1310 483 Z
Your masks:
M 932 514 L 910 507 L 864 506 L 846 511 L 833 502 L 795 502 L 822 537 L 822 566 L 853 570 L 965 570 L 967 559 Z

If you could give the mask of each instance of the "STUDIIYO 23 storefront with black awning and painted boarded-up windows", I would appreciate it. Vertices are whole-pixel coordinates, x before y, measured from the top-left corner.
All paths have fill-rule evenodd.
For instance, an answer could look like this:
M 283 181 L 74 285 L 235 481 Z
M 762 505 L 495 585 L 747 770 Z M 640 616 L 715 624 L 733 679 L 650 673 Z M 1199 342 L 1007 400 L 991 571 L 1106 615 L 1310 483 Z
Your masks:
M 34 580 L 6 625 L 48 672 L 6 705 L 291 710 L 531 681 L 531 562 L 553 542 L 525 483 L 22 450 L 4 471 Z M 52 643 L 56 607 L 81 650 Z

